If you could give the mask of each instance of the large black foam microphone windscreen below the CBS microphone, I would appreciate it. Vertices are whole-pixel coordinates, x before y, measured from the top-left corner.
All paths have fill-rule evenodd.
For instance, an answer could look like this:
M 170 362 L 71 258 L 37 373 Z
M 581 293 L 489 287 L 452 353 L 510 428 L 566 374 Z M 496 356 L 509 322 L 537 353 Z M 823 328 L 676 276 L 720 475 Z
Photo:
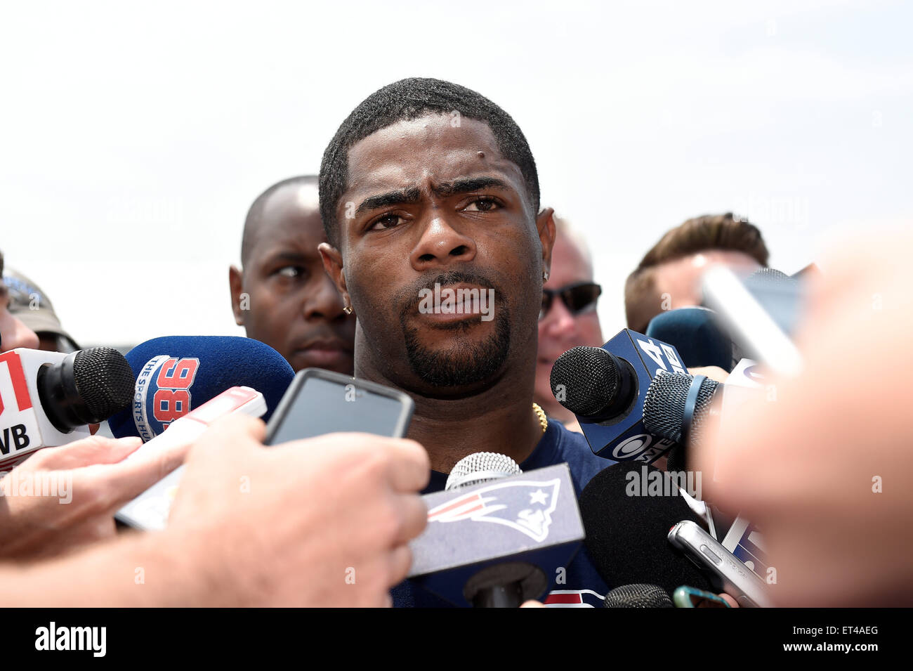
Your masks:
M 654 472 L 660 475 L 650 475 Z M 713 591 L 704 574 L 666 539 L 678 522 L 699 522 L 698 517 L 671 480 L 662 495 L 650 496 L 640 481 L 645 477 L 667 478 L 655 467 L 621 463 L 604 468 L 583 488 L 584 542 L 596 571 L 609 585 L 655 584 L 667 594 L 683 584 Z

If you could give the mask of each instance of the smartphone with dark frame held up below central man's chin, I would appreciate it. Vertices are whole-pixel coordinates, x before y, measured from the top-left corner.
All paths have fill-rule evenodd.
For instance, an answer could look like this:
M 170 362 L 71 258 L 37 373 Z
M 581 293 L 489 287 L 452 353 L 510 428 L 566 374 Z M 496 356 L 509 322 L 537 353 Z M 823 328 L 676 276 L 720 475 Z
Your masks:
M 407 393 L 320 368 L 299 371 L 267 425 L 267 445 L 337 431 L 404 437 L 415 404 Z

